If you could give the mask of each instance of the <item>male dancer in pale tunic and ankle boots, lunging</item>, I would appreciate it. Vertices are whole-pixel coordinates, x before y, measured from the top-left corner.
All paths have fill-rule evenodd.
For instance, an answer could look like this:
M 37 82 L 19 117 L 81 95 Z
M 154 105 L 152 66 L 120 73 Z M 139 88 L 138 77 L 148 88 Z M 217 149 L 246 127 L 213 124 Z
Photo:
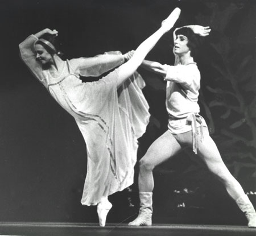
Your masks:
M 194 55 L 200 36 L 209 35 L 210 28 L 185 26 L 174 31 L 175 65 L 162 65 L 144 60 L 142 66 L 161 74 L 167 81 L 166 108 L 169 115 L 168 130 L 155 140 L 139 162 L 139 198 L 141 208 L 130 226 L 152 224 L 153 169 L 171 159 L 184 147 L 191 147 L 224 184 L 226 191 L 245 213 L 249 227 L 256 227 L 256 213 L 238 181 L 221 159 L 220 152 L 210 138 L 207 124 L 199 115 L 197 103 L 200 89 L 200 72 Z M 200 36 L 199 36 L 200 35 Z M 199 132 L 200 131 L 200 132 Z

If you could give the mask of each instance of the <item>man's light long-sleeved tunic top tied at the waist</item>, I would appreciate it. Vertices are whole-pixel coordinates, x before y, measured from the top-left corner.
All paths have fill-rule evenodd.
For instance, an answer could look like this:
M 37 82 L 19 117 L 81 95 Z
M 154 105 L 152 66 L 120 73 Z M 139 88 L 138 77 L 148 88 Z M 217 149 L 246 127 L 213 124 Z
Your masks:
M 164 80 L 167 81 L 166 108 L 169 114 L 168 129 L 173 134 L 180 134 L 192 129 L 187 118 L 190 114 L 198 114 L 197 103 L 200 89 L 200 72 L 196 63 L 188 65 L 177 64 L 167 67 Z M 203 126 L 207 126 L 201 117 Z M 197 123 L 197 127 L 201 126 Z

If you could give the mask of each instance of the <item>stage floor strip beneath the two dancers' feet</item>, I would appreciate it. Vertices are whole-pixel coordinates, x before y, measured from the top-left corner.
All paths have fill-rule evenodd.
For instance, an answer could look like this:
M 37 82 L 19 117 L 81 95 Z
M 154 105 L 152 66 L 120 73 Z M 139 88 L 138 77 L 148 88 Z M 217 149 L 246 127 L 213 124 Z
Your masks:
M 154 225 L 128 227 L 127 224 L 94 223 L 0 223 L 0 235 L 19 236 L 256 236 L 256 229 L 224 225 Z

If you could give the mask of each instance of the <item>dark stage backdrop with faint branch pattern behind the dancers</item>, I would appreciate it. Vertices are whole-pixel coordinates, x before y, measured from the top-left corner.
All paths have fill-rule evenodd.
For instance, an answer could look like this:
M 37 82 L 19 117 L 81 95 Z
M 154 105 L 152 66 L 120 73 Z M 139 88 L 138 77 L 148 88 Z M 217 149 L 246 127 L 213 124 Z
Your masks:
M 43 28 L 57 29 L 68 59 L 135 49 L 175 7 L 176 26 L 212 32 L 199 59 L 201 114 L 222 158 L 255 205 L 255 1 L 0 1 L 0 221 L 97 222 L 80 204 L 86 146 L 73 118 L 19 59 L 18 44 Z M 174 63 L 172 32 L 147 56 Z M 139 69 L 151 120 L 138 159 L 167 129 L 162 78 Z M 90 80 L 91 78 L 89 78 Z M 86 78 L 82 78 L 86 81 Z M 157 157 L 156 157 L 157 158 Z M 138 210 L 138 167 L 129 189 L 110 197 L 108 222 Z M 240 211 L 192 151 L 155 169 L 154 222 L 245 224 Z

